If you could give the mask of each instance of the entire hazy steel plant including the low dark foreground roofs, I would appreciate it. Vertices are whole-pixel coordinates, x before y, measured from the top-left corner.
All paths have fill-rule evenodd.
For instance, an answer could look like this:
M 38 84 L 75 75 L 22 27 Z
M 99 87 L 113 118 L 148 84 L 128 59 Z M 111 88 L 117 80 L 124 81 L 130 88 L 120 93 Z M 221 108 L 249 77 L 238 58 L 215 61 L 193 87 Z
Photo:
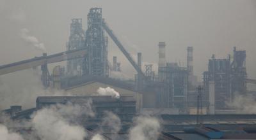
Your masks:
M 70 20 L 66 52 L 43 53 L 0 66 L 0 75 L 40 68 L 44 88 L 61 91 L 61 95 L 37 97 L 35 108 L 22 109 L 19 104 L 13 104 L 1 111 L 2 116 L 22 123 L 8 129 L 29 139 L 35 130 L 24 120 L 35 120 L 44 109 L 61 109 L 71 104 L 86 110 L 76 118 L 76 123 L 86 131 L 84 139 L 93 139 L 98 133 L 101 139 L 131 139 L 129 132 L 134 119 L 140 116 L 159 120 L 161 129 L 156 138 L 150 139 L 256 139 L 256 115 L 230 105 L 237 95 L 256 94 L 246 86 L 256 84 L 246 74 L 246 50 L 235 46 L 227 58 L 212 54 L 200 78 L 194 74 L 193 52 L 197 50 L 193 46 L 184 50 L 187 53 L 184 66 L 168 62 L 168 41 L 156 40 L 158 69 L 154 71 L 154 64 L 143 66 L 143 53 L 137 52 L 134 58 L 127 51 L 127 46 L 107 24 L 108 19 L 102 17 L 102 8 L 91 8 L 87 19 L 87 29 L 83 29 L 82 18 Z M 133 79 L 111 76 L 111 73 L 122 73 L 122 64 L 117 56 L 109 59 L 109 39 L 136 70 Z M 48 65 L 56 62 L 65 62 L 65 66 L 54 66 L 49 71 Z M 89 115 L 91 111 L 93 115 Z M 120 119 L 118 132 L 111 131 L 109 123 L 102 125 L 106 112 Z M 44 138 L 39 135 L 36 139 Z

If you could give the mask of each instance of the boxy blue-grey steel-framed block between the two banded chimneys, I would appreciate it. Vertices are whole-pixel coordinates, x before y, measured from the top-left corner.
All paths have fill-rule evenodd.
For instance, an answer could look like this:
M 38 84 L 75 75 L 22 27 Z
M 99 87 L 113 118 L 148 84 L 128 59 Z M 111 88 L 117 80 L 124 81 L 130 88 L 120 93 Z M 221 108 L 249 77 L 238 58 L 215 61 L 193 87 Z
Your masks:
M 179 108 L 185 111 L 187 106 L 188 71 L 177 64 L 167 64 L 159 67 L 159 76 L 164 77 L 160 82 L 157 106 L 161 108 Z

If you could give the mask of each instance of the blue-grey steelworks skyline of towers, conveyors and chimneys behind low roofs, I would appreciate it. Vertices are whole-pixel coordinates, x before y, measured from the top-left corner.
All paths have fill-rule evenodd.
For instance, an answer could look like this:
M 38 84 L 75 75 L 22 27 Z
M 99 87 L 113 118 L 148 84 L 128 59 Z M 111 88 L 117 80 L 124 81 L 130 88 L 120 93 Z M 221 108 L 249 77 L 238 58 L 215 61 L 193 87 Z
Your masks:
M 246 94 L 246 83 L 256 83 L 246 77 L 246 52 L 234 48 L 233 57 L 228 55 L 227 59 L 216 59 L 212 55 L 208 70 L 203 74 L 203 90 L 198 99 L 195 88 L 198 81 L 193 73 L 193 46 L 187 48 L 187 66 L 181 67 L 166 60 L 165 48 L 168 45 L 161 41 L 158 43 L 158 73 L 152 70 L 152 64 L 145 65 L 145 71 L 142 71 L 142 53 L 138 52 L 137 62 L 131 57 L 102 18 L 102 8 L 91 8 L 87 17 L 86 30 L 81 18 L 71 20 L 67 52 L 48 56 L 44 53 L 42 57 L 6 64 L 0 66 L 0 74 L 41 66 L 45 88 L 53 87 L 74 95 L 91 95 L 99 87 L 113 87 L 121 95 L 133 96 L 137 111 L 172 109 L 174 114 L 195 114 L 198 104 L 202 104 L 204 113 L 230 110 L 227 102 L 232 102 L 237 94 Z M 109 76 L 109 71 L 120 72 L 122 68 L 116 56 L 113 62 L 109 62 L 108 38 L 114 41 L 136 70 L 134 80 L 115 80 Z M 51 74 L 47 64 L 61 61 L 67 61 L 67 66 L 56 66 Z

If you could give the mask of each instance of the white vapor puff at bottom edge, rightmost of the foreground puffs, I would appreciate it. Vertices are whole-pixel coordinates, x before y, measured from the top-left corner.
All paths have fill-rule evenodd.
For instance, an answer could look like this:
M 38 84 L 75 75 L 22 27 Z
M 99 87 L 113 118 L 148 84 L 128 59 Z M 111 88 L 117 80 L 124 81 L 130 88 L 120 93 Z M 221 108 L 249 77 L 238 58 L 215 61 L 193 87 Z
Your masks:
M 139 116 L 135 126 L 129 132 L 130 140 L 156 140 L 160 131 L 160 123 L 150 116 Z

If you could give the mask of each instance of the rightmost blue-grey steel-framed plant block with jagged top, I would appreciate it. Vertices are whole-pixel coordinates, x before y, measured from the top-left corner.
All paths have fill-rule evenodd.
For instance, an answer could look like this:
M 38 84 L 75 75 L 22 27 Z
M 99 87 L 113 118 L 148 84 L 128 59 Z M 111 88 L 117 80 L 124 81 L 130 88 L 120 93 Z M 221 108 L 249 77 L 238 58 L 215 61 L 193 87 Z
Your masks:
M 214 81 L 215 108 L 228 109 L 227 102 L 232 102 L 236 94 L 246 93 L 246 52 L 236 50 L 231 62 L 228 59 L 209 60 L 208 71 L 204 72 L 204 88 L 207 99 L 209 99 L 209 81 Z

